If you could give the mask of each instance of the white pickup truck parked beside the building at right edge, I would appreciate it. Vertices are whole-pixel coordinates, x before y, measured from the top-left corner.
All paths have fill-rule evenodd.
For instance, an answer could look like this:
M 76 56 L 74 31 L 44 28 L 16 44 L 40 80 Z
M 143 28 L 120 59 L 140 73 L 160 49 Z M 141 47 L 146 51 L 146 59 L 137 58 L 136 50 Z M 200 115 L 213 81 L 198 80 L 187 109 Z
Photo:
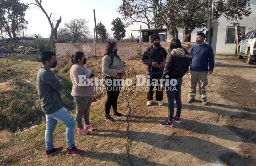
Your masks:
M 239 59 L 246 56 L 247 64 L 256 60 L 256 30 L 248 32 L 239 42 L 237 56 Z

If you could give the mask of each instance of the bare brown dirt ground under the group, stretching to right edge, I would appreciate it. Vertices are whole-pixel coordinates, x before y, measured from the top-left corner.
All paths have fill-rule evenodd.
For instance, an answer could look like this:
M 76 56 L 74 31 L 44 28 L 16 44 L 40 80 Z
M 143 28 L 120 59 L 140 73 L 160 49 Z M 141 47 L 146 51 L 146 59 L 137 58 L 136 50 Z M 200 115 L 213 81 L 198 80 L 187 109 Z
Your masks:
M 222 62 L 223 66 L 216 65 Z M 127 60 L 130 76 L 144 74 L 146 66 L 138 60 Z M 142 67 L 138 67 L 142 66 Z M 189 75 L 182 87 L 182 123 L 163 127 L 159 122 L 167 117 L 167 97 L 164 106 L 154 101 L 146 106 L 146 92 L 123 92 L 131 104 L 130 139 L 128 149 L 134 165 L 256 165 L 256 65 L 245 59 L 216 56 L 215 69 L 207 85 L 208 106 L 199 102 L 187 104 Z M 198 93 L 197 93 L 198 94 Z M 103 121 L 103 96 L 93 102 L 91 110 L 102 120 L 95 122 L 96 131 L 89 136 L 75 135 L 76 145 L 86 152 L 81 156 L 66 156 L 65 150 L 45 157 L 44 124 L 23 139 L 16 140 L 8 132 L 0 139 L 17 141 L 15 146 L 0 148 L 0 165 L 129 165 L 126 151 L 125 117 L 116 122 Z M 125 100 L 118 102 L 119 112 L 127 115 Z M 58 125 L 55 145 L 65 146 L 65 127 Z M 3 136 L 5 135 L 5 136 Z M 27 139 L 28 137 L 28 139 Z M 29 141 L 28 141 L 29 140 Z M 1 143 L 1 142 L 0 142 Z

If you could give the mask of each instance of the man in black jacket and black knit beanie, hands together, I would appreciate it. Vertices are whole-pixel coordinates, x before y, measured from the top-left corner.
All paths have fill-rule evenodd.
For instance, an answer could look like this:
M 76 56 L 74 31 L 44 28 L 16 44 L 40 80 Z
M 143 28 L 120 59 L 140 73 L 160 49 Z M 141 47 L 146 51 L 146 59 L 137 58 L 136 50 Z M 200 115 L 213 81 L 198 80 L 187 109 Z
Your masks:
M 151 106 L 153 100 L 153 89 L 156 86 L 156 100 L 159 106 L 163 105 L 163 91 L 160 89 L 160 79 L 163 75 L 165 66 L 165 58 L 167 51 L 160 45 L 159 35 L 151 36 L 151 45 L 143 54 L 142 62 L 148 66 L 148 77 L 150 78 L 150 86 L 147 93 L 147 106 Z M 152 79 L 157 79 L 158 82 Z M 154 85 L 155 83 L 155 85 Z

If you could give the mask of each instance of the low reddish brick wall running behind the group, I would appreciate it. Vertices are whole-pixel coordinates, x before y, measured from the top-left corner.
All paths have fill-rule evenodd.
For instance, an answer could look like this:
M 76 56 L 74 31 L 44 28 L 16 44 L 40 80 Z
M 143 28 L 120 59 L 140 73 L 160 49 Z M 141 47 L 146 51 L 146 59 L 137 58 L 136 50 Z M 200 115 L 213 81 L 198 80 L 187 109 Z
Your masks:
M 150 47 L 151 43 L 132 43 L 132 42 L 121 42 L 117 43 L 118 55 L 126 58 L 136 57 L 138 51 L 141 50 L 142 53 Z M 169 47 L 169 42 L 162 42 L 162 47 L 167 49 Z M 105 53 L 106 43 L 95 43 L 94 52 L 94 43 L 56 43 L 56 53 L 57 55 L 66 55 L 74 54 L 76 51 L 82 51 L 85 54 L 88 54 L 88 51 L 97 56 L 103 56 Z

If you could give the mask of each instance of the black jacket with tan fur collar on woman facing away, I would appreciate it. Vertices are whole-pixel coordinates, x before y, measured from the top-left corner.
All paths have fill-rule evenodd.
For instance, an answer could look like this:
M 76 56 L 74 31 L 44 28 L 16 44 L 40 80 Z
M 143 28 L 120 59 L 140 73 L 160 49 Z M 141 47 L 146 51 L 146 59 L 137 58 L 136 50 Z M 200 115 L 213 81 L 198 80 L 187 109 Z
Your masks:
M 162 79 L 182 78 L 189 70 L 192 55 L 184 48 L 175 48 L 167 54 Z

